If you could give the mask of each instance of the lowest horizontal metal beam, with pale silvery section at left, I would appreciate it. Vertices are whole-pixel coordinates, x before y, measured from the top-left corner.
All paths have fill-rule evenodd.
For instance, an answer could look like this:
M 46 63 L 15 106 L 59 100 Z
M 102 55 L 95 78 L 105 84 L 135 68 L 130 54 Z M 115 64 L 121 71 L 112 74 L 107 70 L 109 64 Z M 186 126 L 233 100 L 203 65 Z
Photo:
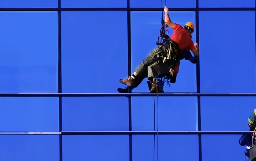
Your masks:
M 253 131 L 158 131 L 159 135 L 238 135 L 252 134 Z M 157 131 L 62 131 L 62 132 L 0 132 L 2 135 L 154 135 Z

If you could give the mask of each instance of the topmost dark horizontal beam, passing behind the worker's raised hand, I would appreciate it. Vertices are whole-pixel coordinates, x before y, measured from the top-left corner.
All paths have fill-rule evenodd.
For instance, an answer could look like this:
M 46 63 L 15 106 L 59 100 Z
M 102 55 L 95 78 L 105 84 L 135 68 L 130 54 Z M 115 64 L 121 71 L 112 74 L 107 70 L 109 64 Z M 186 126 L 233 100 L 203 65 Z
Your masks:
M 170 11 L 255 11 L 254 7 L 169 8 Z M 163 11 L 163 8 L 0 8 L 0 11 Z

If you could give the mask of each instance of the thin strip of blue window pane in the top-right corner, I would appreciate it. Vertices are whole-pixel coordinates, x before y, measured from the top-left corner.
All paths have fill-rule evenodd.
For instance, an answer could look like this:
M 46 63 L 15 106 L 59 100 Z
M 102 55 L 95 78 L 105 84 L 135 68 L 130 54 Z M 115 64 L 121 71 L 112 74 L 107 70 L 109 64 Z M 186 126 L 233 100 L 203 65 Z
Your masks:
M 199 7 L 255 7 L 253 0 L 199 0 Z M 221 23 L 220 23 L 221 24 Z

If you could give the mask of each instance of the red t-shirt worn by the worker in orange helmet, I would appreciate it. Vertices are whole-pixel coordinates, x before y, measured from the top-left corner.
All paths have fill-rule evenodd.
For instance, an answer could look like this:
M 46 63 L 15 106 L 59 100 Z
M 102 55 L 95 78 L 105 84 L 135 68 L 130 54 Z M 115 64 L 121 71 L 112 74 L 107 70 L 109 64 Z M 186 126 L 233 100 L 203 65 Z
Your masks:
M 177 42 L 179 48 L 181 50 L 187 49 L 187 50 L 193 50 L 195 49 L 194 43 L 192 39 L 189 36 L 189 33 L 185 28 L 180 26 L 180 24 L 176 24 L 174 27 L 173 35 L 171 36 L 171 39 L 175 42 Z

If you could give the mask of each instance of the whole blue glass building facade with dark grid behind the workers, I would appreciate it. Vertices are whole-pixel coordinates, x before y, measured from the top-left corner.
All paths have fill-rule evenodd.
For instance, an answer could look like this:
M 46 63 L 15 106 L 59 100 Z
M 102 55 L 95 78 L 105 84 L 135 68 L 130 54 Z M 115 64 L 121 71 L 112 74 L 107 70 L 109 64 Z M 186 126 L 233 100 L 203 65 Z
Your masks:
M 163 96 L 143 95 L 147 79 L 138 96 L 112 95 L 157 47 L 164 5 L 2 0 L 0 160 L 243 160 L 236 132 L 248 131 L 255 96 L 164 94 L 256 93 L 255 0 L 166 0 L 174 23 L 195 24 L 197 64 L 181 60 Z

